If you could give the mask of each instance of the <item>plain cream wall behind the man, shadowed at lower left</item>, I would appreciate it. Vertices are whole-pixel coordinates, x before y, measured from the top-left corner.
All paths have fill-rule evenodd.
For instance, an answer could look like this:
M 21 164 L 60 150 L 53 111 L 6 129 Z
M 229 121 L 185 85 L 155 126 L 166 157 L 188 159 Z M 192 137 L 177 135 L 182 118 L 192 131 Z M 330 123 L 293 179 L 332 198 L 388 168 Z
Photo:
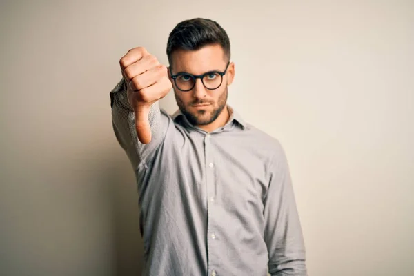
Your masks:
M 281 141 L 309 275 L 414 275 L 414 1 L 1 1 L 0 274 L 139 275 L 119 59 L 221 24 L 229 103 Z M 161 101 L 176 110 L 170 93 Z M 227 275 L 226 275 L 227 276 Z

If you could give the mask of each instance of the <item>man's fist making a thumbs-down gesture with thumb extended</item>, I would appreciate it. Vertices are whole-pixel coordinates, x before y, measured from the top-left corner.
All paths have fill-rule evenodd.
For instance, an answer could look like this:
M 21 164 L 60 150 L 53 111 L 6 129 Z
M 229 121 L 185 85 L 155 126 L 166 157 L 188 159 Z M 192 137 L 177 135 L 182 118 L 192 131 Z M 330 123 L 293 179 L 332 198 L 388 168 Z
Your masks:
M 135 112 L 138 139 L 148 144 L 151 141 L 150 107 L 172 88 L 167 68 L 142 47 L 129 50 L 121 57 L 119 64 L 127 83 L 128 101 Z

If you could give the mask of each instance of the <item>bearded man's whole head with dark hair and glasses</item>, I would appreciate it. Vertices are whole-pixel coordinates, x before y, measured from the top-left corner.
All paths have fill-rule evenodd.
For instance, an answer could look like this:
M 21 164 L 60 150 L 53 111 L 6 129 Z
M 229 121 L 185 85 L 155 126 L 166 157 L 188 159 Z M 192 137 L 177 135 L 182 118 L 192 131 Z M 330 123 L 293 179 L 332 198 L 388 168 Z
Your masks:
M 182 21 L 168 37 L 167 55 L 175 99 L 187 119 L 197 126 L 224 119 L 235 73 L 226 31 L 210 19 Z

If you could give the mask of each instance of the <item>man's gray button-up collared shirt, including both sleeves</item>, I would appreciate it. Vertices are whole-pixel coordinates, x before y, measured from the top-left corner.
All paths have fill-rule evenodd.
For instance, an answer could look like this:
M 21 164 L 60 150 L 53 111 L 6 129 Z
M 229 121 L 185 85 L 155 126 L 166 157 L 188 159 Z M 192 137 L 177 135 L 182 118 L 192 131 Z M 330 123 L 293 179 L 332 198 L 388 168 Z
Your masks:
M 141 144 L 124 81 L 110 92 L 112 126 L 135 170 L 143 275 L 306 275 L 288 163 L 277 139 L 230 107 L 213 132 L 154 103 Z

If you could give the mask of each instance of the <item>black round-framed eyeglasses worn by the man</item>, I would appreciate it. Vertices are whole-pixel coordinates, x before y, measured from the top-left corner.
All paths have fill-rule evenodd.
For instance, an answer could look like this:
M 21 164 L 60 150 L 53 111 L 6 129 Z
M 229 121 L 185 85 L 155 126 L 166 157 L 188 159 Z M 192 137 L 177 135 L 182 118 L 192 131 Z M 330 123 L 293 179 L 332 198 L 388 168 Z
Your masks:
M 209 71 L 203 75 L 192 75 L 190 73 L 180 72 L 177 75 L 172 75 L 171 78 L 174 79 L 175 86 L 183 92 L 192 90 L 197 79 L 201 79 L 204 87 L 208 90 L 215 90 L 221 86 L 223 76 L 226 75 L 229 64 L 230 61 L 228 61 L 226 69 L 223 72 Z

